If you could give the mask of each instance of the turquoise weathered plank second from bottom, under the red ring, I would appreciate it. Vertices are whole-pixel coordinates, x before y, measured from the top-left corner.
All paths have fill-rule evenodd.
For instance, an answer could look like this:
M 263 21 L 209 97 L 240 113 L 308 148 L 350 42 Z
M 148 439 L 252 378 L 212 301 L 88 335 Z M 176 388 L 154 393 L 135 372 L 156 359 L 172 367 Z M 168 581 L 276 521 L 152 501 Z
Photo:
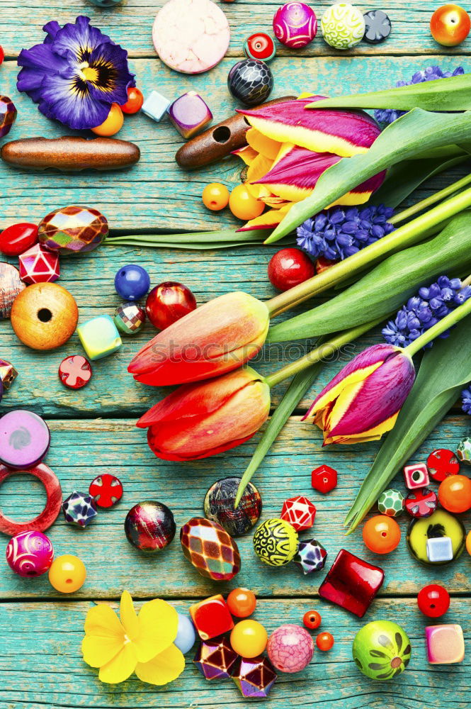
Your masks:
M 208 596 L 218 588 L 249 586 L 261 596 L 316 596 L 324 574 L 302 576 L 290 564 L 285 569 L 268 568 L 256 558 L 251 535 L 238 540 L 242 571 L 229 584 L 215 584 L 203 579 L 183 559 L 178 532 L 174 542 L 157 556 L 136 551 L 127 542 L 123 523 L 127 510 L 144 500 L 160 500 L 173 510 L 177 530 L 189 518 L 203 513 L 203 499 L 217 478 L 240 475 L 246 467 L 254 442 L 222 454 L 188 464 L 160 461 L 149 451 L 145 432 L 130 420 L 52 421 L 52 446 L 46 462 L 56 471 L 64 496 L 72 490 L 87 491 L 91 479 L 103 472 L 113 472 L 125 487 L 123 501 L 108 511 L 101 511 L 90 527 L 79 530 L 59 518 L 50 529 L 56 554 L 77 554 L 84 559 L 88 579 L 77 593 L 82 598 L 117 597 L 130 584 L 136 596 L 154 596 L 156 589 L 166 596 Z M 469 420 L 450 417 L 441 423 L 419 449 L 414 461 L 423 461 L 436 447 L 456 449 L 469 432 Z M 317 505 L 313 530 L 303 539 L 315 536 L 327 548 L 333 562 L 341 547 L 379 564 L 385 569 L 382 595 L 414 594 L 426 582 L 445 584 L 450 592 L 471 593 L 470 557 L 455 564 L 431 568 L 421 566 L 409 556 L 405 543 L 407 515 L 399 518 L 402 542 L 386 557 L 365 549 L 361 532 L 344 537 L 344 516 L 351 505 L 378 443 L 356 446 L 330 446 L 322 449 L 319 431 L 293 418 L 281 433 L 254 479 L 263 498 L 263 518 L 278 516 L 285 498 L 306 494 Z M 327 496 L 312 490 L 310 472 L 319 464 L 329 464 L 339 471 L 339 484 Z M 401 476 L 396 484 L 404 488 Z M 19 520 L 33 518 L 43 503 L 40 484 L 21 476 L 10 479 L 0 488 L 0 506 L 6 515 Z M 469 523 L 471 515 L 464 515 Z M 330 563 L 327 566 L 329 567 Z M 8 569 L 0 576 L 0 598 L 52 598 L 57 593 L 47 578 L 21 579 Z

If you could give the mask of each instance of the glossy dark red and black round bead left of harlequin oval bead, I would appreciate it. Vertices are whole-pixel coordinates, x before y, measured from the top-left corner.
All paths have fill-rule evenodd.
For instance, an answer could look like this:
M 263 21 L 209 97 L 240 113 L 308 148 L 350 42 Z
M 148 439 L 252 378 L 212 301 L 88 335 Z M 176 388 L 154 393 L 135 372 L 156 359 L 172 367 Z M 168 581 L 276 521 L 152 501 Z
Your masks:
M 174 515 L 161 502 L 137 503 L 126 515 L 127 541 L 140 552 L 159 552 L 173 540 L 176 532 Z

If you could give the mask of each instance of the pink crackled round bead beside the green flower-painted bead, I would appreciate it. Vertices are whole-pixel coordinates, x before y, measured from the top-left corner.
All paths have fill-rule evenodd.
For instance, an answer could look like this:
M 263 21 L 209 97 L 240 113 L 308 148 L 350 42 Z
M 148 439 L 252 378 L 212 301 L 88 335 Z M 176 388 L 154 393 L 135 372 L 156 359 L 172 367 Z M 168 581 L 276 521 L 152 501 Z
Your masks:
M 314 641 L 300 625 L 280 625 L 268 638 L 266 649 L 280 672 L 300 672 L 312 659 Z

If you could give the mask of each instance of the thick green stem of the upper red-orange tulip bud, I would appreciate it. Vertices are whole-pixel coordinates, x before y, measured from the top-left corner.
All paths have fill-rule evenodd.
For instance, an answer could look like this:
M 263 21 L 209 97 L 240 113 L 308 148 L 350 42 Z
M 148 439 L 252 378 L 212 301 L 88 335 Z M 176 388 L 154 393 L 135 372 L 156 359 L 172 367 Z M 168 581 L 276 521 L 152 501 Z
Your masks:
M 382 239 L 378 239 L 373 244 L 344 259 L 344 261 L 339 261 L 339 263 L 334 264 L 334 266 L 322 273 L 307 279 L 299 286 L 290 288 L 288 291 L 266 301 L 270 317 L 273 318 L 285 310 L 302 303 L 307 298 L 311 298 L 314 294 L 321 293 L 327 288 L 344 281 L 346 278 L 360 272 L 370 262 L 424 240 L 427 235 L 431 235 L 437 230 L 437 225 L 469 206 L 471 206 L 471 188 L 465 189 L 460 194 L 438 204 L 425 214 L 421 214 L 421 216 L 404 224 Z

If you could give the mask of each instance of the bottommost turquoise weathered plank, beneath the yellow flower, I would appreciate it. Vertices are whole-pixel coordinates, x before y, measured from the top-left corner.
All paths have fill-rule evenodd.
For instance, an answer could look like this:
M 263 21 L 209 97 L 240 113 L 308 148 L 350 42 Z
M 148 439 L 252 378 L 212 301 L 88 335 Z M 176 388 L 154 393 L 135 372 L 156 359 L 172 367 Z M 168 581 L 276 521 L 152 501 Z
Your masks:
M 159 588 L 154 588 L 159 595 Z M 174 603 L 187 610 L 191 601 Z M 114 603 L 114 607 L 117 605 Z M 229 709 L 247 706 L 232 681 L 208 682 L 186 657 L 181 677 L 166 688 L 141 683 L 134 676 L 125 683 L 100 683 L 97 671 L 84 664 L 80 642 L 91 603 L 8 603 L 0 605 L 3 652 L 0 658 L 0 705 L 2 709 L 42 709 L 45 705 L 79 708 L 133 707 L 150 709 L 215 706 Z M 469 602 L 453 599 L 446 623 L 460 623 L 469 637 Z M 467 709 L 469 707 L 470 655 L 458 665 L 432 666 L 426 660 L 424 627 L 414 598 L 375 601 L 364 620 L 319 601 L 259 601 L 254 618 L 268 633 L 284 623 L 301 623 L 306 610 L 322 613 L 322 628 L 335 637 L 331 652 L 314 652 L 311 664 L 298 674 L 280 674 L 273 687 L 272 709 L 289 706 L 322 709 Z M 351 644 L 368 620 L 393 620 L 404 627 L 412 643 L 407 670 L 395 681 L 365 678 L 351 657 Z M 315 632 L 314 632 L 315 635 Z

